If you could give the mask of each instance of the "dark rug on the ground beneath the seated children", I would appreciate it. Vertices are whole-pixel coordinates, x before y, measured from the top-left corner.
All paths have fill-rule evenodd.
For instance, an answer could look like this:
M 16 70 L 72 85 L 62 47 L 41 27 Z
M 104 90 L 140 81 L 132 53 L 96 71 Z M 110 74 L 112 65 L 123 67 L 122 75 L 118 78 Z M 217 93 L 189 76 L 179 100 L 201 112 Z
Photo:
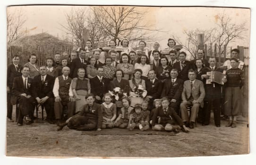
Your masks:
M 96 135 L 166 135 L 166 136 L 175 136 L 179 135 L 179 133 L 174 132 L 158 132 L 158 131 L 140 131 L 138 129 L 134 129 L 132 131 L 129 131 L 128 129 L 120 129 L 120 128 L 112 128 L 112 129 L 103 129 L 102 131 L 82 131 L 82 135 L 90 135 L 90 136 L 96 136 Z

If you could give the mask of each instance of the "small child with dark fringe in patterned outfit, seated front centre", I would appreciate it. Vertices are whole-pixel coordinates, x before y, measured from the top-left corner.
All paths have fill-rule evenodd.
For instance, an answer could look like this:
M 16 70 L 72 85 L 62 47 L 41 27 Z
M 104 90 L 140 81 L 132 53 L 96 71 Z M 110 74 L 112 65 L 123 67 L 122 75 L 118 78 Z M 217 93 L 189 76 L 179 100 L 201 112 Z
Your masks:
M 141 110 L 141 105 L 136 104 L 134 106 L 135 112 L 130 116 L 128 129 L 132 131 L 134 128 L 139 128 L 141 131 L 145 129 L 144 113 Z

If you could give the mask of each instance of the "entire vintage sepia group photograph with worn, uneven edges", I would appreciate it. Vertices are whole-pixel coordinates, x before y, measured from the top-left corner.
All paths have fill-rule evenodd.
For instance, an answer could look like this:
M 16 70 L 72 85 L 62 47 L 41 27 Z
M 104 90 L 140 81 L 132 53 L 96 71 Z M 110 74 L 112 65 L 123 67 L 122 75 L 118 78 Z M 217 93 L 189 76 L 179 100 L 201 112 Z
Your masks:
M 6 156 L 249 154 L 250 14 L 8 6 Z

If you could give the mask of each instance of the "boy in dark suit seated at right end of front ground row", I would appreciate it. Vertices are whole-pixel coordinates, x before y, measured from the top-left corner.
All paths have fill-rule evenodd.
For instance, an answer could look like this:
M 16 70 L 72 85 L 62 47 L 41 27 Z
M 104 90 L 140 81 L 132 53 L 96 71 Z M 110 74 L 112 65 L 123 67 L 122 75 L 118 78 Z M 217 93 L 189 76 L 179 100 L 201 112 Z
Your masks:
M 172 107 L 169 107 L 170 101 L 167 98 L 162 98 L 162 107 L 158 107 L 154 113 L 152 120 L 152 129 L 154 131 L 174 131 L 182 130 L 188 132 L 188 128 L 184 125 L 181 118 Z M 160 117 L 160 123 L 156 124 L 157 116 Z M 176 125 L 176 122 L 179 125 Z

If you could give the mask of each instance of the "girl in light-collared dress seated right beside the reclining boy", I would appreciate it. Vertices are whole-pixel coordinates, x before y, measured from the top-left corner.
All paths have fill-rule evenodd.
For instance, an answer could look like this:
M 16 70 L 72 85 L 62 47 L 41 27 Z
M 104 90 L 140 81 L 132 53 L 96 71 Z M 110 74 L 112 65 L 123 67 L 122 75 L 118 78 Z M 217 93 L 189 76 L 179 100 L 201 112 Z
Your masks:
M 112 103 L 112 96 L 110 93 L 106 93 L 103 97 L 102 103 L 102 129 L 113 128 L 114 120 L 116 119 L 117 107 Z

